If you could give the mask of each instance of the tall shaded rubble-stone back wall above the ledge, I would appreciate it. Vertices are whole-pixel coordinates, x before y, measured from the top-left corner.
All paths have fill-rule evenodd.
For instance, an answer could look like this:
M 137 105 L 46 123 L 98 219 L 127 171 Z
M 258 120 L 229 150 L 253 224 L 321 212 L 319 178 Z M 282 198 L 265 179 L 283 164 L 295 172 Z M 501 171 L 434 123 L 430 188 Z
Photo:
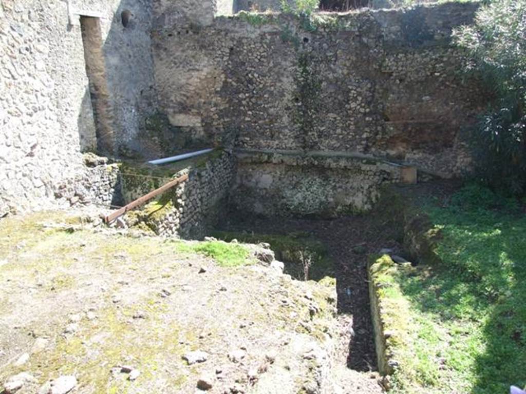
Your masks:
M 208 144 L 355 152 L 459 175 L 470 165 L 460 131 L 484 95 L 462 77 L 451 32 L 477 7 L 313 20 L 240 14 L 207 24 L 161 11 L 153 33 L 160 108 Z

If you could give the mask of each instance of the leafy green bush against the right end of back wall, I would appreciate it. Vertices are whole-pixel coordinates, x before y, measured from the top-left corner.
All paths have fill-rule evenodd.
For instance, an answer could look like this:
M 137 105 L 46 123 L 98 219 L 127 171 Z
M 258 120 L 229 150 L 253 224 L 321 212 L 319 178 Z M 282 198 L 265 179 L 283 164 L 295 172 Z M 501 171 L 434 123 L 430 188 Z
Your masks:
M 526 192 L 526 0 L 482 6 L 473 26 L 456 32 L 469 70 L 482 75 L 493 100 L 471 134 L 481 180 Z

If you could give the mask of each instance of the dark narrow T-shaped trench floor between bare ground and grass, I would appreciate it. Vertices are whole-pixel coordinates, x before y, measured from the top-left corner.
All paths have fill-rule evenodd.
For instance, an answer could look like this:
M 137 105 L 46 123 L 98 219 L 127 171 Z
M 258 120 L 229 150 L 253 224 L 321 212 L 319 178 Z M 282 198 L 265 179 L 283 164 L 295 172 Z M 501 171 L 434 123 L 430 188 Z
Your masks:
M 377 360 L 370 314 L 367 281 L 367 258 L 381 248 L 401 252 L 399 229 L 378 215 L 359 215 L 339 219 L 290 219 L 283 217 L 230 218 L 219 230 L 267 235 L 304 234 L 320 241 L 332 267 L 326 274 L 336 277 L 338 293 L 338 321 L 341 330 L 353 331 L 340 344 L 336 362 L 360 371 L 376 371 Z M 261 241 L 265 241 L 262 237 Z M 287 271 L 287 262 L 286 271 Z M 320 273 L 317 273 L 319 278 Z M 323 275 L 321 275 L 323 276 Z M 352 328 L 352 330 L 350 330 Z

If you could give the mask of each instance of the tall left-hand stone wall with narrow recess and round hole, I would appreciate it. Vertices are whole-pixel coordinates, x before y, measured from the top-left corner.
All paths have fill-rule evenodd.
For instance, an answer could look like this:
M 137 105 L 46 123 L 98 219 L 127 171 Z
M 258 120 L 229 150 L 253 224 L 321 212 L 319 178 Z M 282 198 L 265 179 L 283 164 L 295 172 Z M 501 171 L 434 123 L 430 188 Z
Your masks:
M 150 13 L 148 0 L 2 0 L 0 216 L 57 206 L 58 185 L 87 171 L 81 151 L 96 132 L 81 14 L 100 17 L 115 139 L 135 139 L 155 98 Z

